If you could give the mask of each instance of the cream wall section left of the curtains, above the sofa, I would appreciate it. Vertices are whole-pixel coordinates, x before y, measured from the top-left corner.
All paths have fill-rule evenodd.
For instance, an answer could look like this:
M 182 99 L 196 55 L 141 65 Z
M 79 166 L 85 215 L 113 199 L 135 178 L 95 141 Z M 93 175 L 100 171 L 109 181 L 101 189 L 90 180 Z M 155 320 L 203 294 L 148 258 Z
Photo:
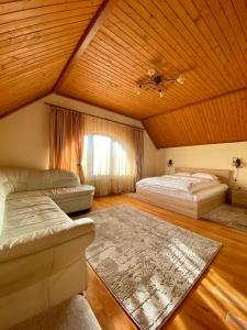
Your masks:
M 47 168 L 48 120 L 44 99 L 0 119 L 0 166 Z

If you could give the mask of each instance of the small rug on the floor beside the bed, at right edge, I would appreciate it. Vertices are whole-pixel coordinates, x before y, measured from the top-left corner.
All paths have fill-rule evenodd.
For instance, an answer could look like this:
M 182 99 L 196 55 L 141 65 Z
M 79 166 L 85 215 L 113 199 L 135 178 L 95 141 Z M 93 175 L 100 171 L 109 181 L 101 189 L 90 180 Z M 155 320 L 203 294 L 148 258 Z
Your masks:
M 203 219 L 247 232 L 247 209 L 245 208 L 223 204 L 218 208 L 203 216 Z

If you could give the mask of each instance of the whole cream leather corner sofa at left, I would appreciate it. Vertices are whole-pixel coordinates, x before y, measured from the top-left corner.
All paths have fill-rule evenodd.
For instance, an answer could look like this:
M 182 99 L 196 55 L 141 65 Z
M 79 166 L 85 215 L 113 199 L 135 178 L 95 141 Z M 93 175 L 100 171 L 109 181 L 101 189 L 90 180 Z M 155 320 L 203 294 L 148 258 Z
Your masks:
M 0 329 L 86 290 L 94 224 L 65 212 L 89 208 L 93 190 L 69 172 L 0 169 Z

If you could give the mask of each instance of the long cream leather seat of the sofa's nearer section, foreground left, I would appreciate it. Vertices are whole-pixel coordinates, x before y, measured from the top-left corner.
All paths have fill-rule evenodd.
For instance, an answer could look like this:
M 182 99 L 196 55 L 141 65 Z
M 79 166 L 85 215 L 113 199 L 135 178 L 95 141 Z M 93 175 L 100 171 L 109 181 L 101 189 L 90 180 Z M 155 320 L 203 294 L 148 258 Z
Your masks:
M 93 228 L 91 219 L 72 221 L 46 196 L 7 200 L 0 262 L 60 244 Z

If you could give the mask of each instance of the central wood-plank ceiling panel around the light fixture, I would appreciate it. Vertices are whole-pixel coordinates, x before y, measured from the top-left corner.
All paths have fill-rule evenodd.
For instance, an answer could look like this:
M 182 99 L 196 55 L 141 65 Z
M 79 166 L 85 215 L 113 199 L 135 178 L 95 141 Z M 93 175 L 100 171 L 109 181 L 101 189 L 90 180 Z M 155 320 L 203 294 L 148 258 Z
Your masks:
M 57 89 L 145 119 L 247 86 L 245 0 L 120 0 Z M 136 81 L 156 66 L 186 74 L 164 98 Z

